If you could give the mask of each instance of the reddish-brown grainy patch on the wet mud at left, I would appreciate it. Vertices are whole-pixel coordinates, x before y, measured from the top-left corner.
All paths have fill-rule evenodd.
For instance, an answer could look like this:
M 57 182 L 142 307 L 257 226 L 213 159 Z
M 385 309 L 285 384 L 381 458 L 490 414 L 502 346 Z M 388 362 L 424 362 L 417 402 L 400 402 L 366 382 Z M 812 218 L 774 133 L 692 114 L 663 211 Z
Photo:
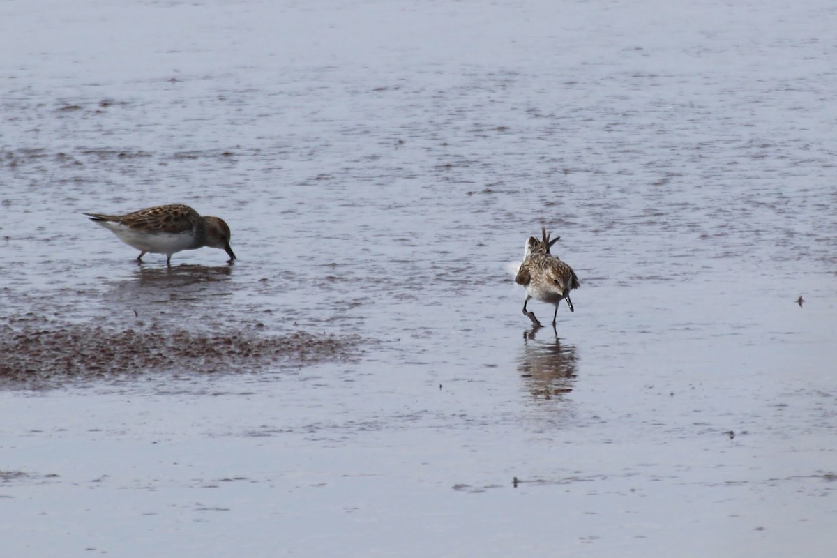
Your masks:
M 354 337 L 257 335 L 245 331 L 193 331 L 182 327 L 113 326 L 19 320 L 0 325 L 0 384 L 43 389 L 165 372 L 235 373 L 275 363 L 345 361 L 357 354 Z

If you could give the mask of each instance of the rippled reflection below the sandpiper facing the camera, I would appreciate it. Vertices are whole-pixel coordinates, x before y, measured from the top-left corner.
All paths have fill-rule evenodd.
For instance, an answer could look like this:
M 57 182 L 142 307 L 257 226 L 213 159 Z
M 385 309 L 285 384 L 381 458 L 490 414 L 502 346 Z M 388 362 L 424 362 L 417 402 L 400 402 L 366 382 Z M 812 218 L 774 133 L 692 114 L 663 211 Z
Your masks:
M 524 346 L 518 370 L 527 391 L 538 398 L 562 397 L 573 391 L 578 355 L 573 345 L 563 344 L 555 336 L 537 340 L 538 328 L 523 332 Z

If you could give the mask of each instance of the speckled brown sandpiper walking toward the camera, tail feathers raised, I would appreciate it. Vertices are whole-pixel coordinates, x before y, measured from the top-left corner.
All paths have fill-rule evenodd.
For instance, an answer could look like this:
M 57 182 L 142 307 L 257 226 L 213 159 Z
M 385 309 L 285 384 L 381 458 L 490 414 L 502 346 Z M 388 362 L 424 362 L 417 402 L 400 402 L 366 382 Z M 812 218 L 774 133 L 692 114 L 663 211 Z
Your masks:
M 552 315 L 552 327 L 555 327 L 555 320 L 558 315 L 558 304 L 562 299 L 567 300 L 570 312 L 575 312 L 573 301 L 570 299 L 570 291 L 578 289 L 578 277 L 573 268 L 557 259 L 549 249 L 558 238 L 549 239 L 547 228 L 542 227 L 543 238 L 538 240 L 530 237 L 524 248 L 524 258 L 520 269 L 517 271 L 515 283 L 526 287 L 526 300 L 523 301 L 523 315 L 526 315 L 533 325 L 541 326 L 533 312 L 526 311 L 526 304 L 529 299 L 538 299 L 555 305 L 555 313 Z

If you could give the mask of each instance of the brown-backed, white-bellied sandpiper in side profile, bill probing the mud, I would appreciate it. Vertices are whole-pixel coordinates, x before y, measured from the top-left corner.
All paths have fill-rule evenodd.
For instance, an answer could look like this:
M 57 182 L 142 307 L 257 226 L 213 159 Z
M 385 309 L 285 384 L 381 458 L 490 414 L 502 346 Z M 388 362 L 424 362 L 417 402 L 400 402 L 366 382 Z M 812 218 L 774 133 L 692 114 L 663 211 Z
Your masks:
M 125 215 L 85 215 L 139 250 L 136 261 L 140 264 L 146 253 L 165 253 L 166 264 L 172 267 L 172 253 L 204 246 L 226 251 L 229 264 L 235 259 L 233 248 L 229 247 L 227 223 L 217 217 L 201 217 L 192 207 L 181 203 L 146 207 Z

